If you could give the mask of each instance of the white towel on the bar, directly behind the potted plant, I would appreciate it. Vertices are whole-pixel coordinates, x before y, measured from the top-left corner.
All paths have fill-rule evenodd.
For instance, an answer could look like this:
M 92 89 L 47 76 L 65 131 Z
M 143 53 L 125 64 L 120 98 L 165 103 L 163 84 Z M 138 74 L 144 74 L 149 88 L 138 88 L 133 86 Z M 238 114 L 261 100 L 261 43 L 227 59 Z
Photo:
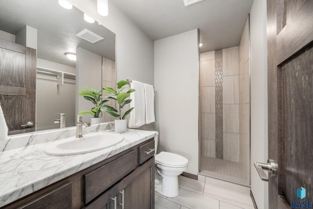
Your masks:
M 130 113 L 128 126 L 130 128 L 139 128 L 145 124 L 145 86 L 138 81 L 131 82 L 131 88 L 136 90 L 131 93 L 131 108 L 134 110 Z

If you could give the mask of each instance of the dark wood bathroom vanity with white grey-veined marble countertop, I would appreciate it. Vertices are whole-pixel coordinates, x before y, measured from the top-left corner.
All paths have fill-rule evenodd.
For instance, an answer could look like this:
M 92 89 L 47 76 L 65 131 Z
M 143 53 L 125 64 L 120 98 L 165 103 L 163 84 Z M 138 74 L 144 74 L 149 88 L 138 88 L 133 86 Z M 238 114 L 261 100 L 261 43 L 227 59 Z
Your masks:
M 5 209 L 154 209 L 154 137 L 156 135 L 157 132 L 129 129 L 123 133 L 124 141 L 112 148 L 74 156 L 45 155 L 42 148 L 49 146 L 50 142 L 24 148 L 20 152 L 24 151 L 27 153 L 26 156 L 33 155 L 36 158 L 29 166 L 36 167 L 36 163 L 46 165 L 38 166 L 41 169 L 38 169 L 37 179 L 31 177 L 33 180 L 30 181 L 33 182 L 20 183 L 26 180 L 14 178 L 12 175 L 12 182 L 9 183 L 10 178 L 6 180 L 12 185 L 9 192 L 5 190 L 7 185 L 1 183 L 4 186 L 0 185 L 1 207 Z M 42 153 L 39 154 L 39 150 Z M 21 160 L 24 159 L 22 163 L 27 161 L 24 154 L 20 153 Z M 54 169 L 50 169 L 49 163 L 53 164 Z M 47 172 L 46 167 L 51 171 L 43 174 Z M 1 164 L 1 172 L 3 168 Z M 19 165 L 15 170 L 16 174 L 20 175 Z M 8 171 L 8 175 L 9 173 Z M 30 175 L 35 174 L 33 170 L 30 173 Z M 24 195 L 25 191 L 29 192 L 29 188 L 36 191 Z

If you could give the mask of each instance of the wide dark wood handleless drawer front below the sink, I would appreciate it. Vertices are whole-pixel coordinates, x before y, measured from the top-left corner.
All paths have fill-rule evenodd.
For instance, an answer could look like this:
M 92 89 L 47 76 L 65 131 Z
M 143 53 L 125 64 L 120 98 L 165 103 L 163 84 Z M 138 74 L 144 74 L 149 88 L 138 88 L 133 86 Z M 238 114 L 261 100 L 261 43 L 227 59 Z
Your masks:
M 84 175 L 84 202 L 104 192 L 136 166 L 135 150 Z

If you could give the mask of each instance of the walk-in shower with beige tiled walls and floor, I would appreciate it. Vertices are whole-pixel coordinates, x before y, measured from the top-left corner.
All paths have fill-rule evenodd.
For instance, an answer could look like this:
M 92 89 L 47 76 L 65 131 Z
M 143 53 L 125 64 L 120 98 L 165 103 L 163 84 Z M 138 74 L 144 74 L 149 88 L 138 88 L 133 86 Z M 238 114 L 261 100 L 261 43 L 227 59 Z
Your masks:
M 201 53 L 201 173 L 250 184 L 249 20 L 240 45 Z

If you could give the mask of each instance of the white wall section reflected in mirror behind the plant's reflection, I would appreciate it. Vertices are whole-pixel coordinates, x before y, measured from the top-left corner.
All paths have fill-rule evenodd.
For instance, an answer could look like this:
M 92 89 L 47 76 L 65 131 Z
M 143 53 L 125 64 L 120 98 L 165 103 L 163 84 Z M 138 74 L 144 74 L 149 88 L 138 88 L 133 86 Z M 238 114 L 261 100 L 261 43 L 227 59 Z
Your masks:
M 94 107 L 91 101 L 78 96 L 82 90 L 88 90 L 90 86 L 99 91 L 102 89 L 102 56 L 78 47 L 76 49 L 76 111 L 91 110 Z M 89 114 L 83 116 L 83 121 L 90 122 L 93 117 Z

